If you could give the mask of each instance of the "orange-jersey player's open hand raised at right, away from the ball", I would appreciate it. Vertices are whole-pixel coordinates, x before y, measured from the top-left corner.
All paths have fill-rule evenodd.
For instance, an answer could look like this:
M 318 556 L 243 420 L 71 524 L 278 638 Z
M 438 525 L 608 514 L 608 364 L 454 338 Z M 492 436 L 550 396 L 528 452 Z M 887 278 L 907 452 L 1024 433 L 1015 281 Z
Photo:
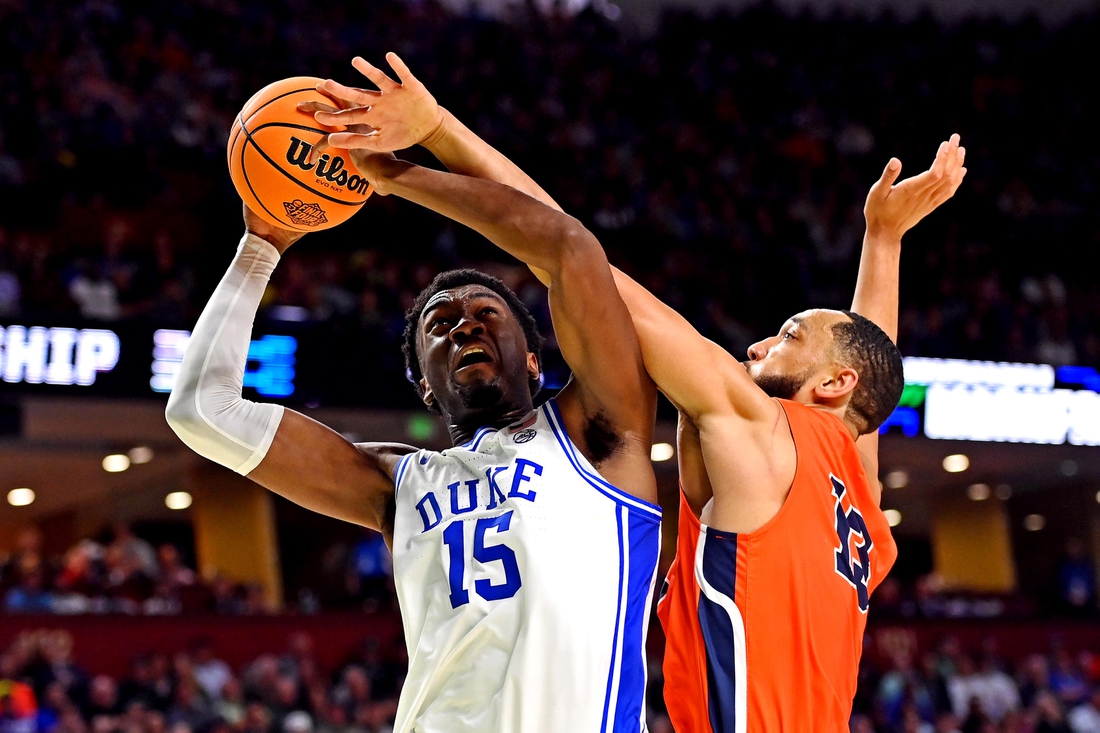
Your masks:
M 966 149 L 959 146 L 957 134 L 939 144 L 936 160 L 927 171 L 901 183 L 894 183 L 901 175 L 901 161 L 890 158 L 882 177 L 867 195 L 864 207 L 867 236 L 900 241 L 916 222 L 955 195 L 966 176 L 965 158 Z

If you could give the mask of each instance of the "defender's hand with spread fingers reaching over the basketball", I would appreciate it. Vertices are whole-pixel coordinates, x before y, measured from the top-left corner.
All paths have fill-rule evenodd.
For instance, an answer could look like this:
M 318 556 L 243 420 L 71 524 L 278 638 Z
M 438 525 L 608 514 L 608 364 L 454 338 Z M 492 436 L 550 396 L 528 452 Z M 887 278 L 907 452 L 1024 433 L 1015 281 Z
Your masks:
M 341 109 L 324 108 L 323 105 L 301 106 L 304 111 L 314 112 L 321 124 L 365 124 L 370 128 L 367 131 L 349 129 L 348 132 L 332 133 L 329 144 L 346 150 L 391 153 L 424 143 L 441 130 L 444 112 L 436 98 L 397 54 L 386 54 L 386 61 L 397 73 L 399 84 L 356 56 L 352 66 L 373 81 L 378 91 L 348 87 L 327 79 L 317 90 L 338 101 Z

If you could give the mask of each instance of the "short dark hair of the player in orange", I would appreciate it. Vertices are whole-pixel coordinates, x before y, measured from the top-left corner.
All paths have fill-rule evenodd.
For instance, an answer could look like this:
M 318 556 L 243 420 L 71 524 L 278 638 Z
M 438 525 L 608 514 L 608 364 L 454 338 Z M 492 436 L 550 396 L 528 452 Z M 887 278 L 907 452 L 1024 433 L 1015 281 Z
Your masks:
M 905 389 L 901 351 L 873 321 L 850 310 L 850 321 L 833 326 L 837 357 L 859 373 L 859 384 L 848 403 L 848 417 L 859 435 L 873 433 L 887 422 Z

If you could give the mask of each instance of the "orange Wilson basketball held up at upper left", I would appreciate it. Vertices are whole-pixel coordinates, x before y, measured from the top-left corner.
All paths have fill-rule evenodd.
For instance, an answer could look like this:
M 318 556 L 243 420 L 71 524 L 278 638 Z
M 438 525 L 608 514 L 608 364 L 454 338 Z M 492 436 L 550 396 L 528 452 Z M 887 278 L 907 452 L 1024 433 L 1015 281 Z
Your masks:
M 295 231 L 329 229 L 363 206 L 371 185 L 345 150 L 329 147 L 317 163 L 306 158 L 328 128 L 298 102 L 332 101 L 317 91 L 321 79 L 296 76 L 252 96 L 229 133 L 229 174 L 237 193 L 260 217 Z

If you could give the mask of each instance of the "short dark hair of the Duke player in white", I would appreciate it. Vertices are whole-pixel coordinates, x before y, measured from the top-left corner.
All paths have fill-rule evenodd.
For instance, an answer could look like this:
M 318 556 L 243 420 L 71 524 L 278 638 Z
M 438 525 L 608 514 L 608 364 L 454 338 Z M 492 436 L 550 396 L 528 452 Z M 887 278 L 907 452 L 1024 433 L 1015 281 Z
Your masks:
M 542 338 L 542 333 L 539 331 L 539 324 L 535 320 L 535 316 L 527 309 L 524 302 L 519 299 L 519 296 L 499 278 L 486 275 L 479 270 L 471 270 L 469 267 L 448 270 L 436 275 L 436 278 L 428 284 L 428 287 L 420 291 L 420 295 L 416 296 L 413 307 L 405 314 L 405 343 L 402 344 L 402 352 L 405 354 L 405 375 L 413 382 L 417 394 L 421 397 L 424 396 L 424 389 L 420 386 L 420 378 L 424 376 L 424 372 L 420 370 L 420 354 L 417 350 L 420 316 L 424 315 L 424 309 L 428 305 L 428 300 L 437 293 L 464 285 L 481 285 L 493 291 L 504 299 L 508 305 L 508 309 L 512 310 L 512 315 L 516 317 L 516 320 L 522 327 L 524 337 L 527 339 L 527 350 L 535 354 L 535 359 L 539 364 L 539 372 L 542 372 L 542 343 L 546 339 Z M 528 380 L 528 386 L 531 389 L 532 397 L 541 389 L 539 380 L 535 379 Z

